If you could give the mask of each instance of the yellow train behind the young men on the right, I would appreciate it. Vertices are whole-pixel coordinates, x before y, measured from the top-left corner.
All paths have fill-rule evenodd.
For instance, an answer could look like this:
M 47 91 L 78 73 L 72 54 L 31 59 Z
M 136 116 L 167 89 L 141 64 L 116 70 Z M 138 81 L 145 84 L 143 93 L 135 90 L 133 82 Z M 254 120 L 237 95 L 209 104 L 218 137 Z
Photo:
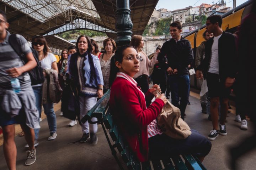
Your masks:
M 247 1 L 244 4 L 241 4 L 238 7 L 232 9 L 231 11 L 223 14 L 222 29 L 229 33 L 236 32 L 237 27 L 241 25 L 242 19 L 250 12 L 251 7 L 252 1 Z M 205 30 L 205 25 L 203 25 L 201 28 L 184 36 L 184 38 L 188 39 L 191 43 L 194 52 L 194 57 L 196 54 L 197 47 L 204 41 L 203 33 Z M 191 86 L 200 88 L 199 84 L 196 81 L 195 75 L 191 76 Z

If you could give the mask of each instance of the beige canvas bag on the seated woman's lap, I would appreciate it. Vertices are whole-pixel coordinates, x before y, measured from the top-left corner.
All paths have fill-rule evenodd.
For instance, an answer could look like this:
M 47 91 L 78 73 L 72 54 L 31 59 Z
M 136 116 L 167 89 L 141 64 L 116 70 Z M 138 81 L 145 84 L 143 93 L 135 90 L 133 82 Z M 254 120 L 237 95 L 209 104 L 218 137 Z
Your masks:
M 181 119 L 180 109 L 171 104 L 169 100 L 167 100 L 167 103 L 162 108 L 162 112 L 158 115 L 157 120 L 161 131 L 171 138 L 186 139 L 191 135 L 190 127 Z

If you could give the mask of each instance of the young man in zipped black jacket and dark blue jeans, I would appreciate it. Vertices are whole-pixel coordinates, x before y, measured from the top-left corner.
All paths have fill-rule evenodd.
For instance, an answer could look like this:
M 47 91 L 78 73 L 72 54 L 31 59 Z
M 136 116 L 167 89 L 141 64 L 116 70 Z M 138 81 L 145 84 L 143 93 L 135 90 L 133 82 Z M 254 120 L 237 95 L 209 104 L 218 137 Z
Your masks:
M 190 86 L 188 65 L 192 63 L 194 57 L 190 41 L 183 38 L 181 32 L 182 26 L 179 21 L 170 24 L 172 38 L 162 45 L 158 61 L 163 63 L 166 55 L 168 60 L 168 64 L 165 64 L 166 71 L 171 75 L 169 78 L 171 101 L 174 106 L 180 108 L 181 118 L 184 120 Z

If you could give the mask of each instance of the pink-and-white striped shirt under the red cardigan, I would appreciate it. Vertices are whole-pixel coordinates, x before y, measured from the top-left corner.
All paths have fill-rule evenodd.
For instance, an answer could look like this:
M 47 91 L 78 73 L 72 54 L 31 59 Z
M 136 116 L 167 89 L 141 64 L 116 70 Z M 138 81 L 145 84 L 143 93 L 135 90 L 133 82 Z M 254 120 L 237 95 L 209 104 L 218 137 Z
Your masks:
M 129 75 L 119 72 L 117 73 L 117 77 L 122 77 L 128 81 L 130 81 L 130 83 L 132 83 L 134 86 L 137 87 L 137 82 L 131 78 Z M 144 93 L 137 87 L 137 89 L 143 94 L 143 96 L 145 97 Z M 145 101 L 146 102 L 146 101 Z M 162 132 L 161 130 L 158 128 L 157 122 L 156 120 L 153 120 L 149 125 L 148 125 L 148 138 L 153 137 L 155 135 L 161 135 Z

